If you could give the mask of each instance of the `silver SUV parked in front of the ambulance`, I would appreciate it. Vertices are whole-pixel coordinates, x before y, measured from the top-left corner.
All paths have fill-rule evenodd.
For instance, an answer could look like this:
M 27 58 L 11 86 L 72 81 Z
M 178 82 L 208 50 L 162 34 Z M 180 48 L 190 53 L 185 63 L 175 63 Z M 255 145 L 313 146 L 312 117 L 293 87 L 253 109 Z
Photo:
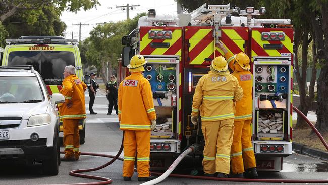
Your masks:
M 0 66 L 0 163 L 42 163 L 43 173 L 57 175 L 60 164 L 59 116 L 40 74 L 32 66 Z

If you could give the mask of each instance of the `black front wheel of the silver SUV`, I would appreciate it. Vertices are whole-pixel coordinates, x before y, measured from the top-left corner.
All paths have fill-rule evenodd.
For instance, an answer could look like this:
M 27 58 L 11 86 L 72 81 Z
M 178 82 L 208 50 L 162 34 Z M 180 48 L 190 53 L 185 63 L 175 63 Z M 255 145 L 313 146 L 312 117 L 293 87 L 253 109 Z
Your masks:
M 42 168 L 43 173 L 46 175 L 57 175 L 58 174 L 58 164 L 60 158 L 58 158 L 59 151 L 58 151 L 58 137 L 54 138 L 53 140 L 53 147 L 49 150 L 50 153 L 48 154 L 49 158 L 43 160 Z

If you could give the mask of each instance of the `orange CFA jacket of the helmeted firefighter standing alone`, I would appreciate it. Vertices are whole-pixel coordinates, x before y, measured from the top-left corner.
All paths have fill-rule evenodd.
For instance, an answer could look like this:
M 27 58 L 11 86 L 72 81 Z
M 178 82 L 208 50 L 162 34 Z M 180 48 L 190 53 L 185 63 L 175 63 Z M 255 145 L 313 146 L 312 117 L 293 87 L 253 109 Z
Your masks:
M 132 72 L 120 83 L 118 94 L 121 130 L 150 130 L 156 119 L 149 81 L 140 72 Z

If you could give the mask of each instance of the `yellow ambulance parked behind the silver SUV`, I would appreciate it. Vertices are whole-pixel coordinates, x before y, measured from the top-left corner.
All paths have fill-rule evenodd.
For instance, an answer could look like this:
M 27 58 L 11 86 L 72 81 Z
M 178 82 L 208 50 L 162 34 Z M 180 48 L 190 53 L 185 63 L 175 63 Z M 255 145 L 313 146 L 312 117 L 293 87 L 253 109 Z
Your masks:
M 76 76 L 82 80 L 83 71 L 76 39 L 61 36 L 21 36 L 6 39 L 2 66 L 32 65 L 45 82 L 49 96 L 62 88 L 65 66 L 76 68 Z M 85 142 L 85 119 L 79 122 L 80 143 Z M 63 131 L 63 122 L 60 122 Z

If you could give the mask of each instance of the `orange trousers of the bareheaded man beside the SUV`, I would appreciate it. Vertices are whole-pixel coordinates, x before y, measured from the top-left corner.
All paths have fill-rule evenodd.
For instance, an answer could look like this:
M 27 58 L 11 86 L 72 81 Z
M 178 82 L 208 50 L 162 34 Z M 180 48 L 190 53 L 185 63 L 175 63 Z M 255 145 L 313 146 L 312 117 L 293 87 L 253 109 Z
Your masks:
M 63 132 L 64 132 L 64 153 L 65 157 L 75 158 L 80 156 L 80 135 L 79 135 L 79 120 L 78 119 L 65 119 L 63 120 Z

